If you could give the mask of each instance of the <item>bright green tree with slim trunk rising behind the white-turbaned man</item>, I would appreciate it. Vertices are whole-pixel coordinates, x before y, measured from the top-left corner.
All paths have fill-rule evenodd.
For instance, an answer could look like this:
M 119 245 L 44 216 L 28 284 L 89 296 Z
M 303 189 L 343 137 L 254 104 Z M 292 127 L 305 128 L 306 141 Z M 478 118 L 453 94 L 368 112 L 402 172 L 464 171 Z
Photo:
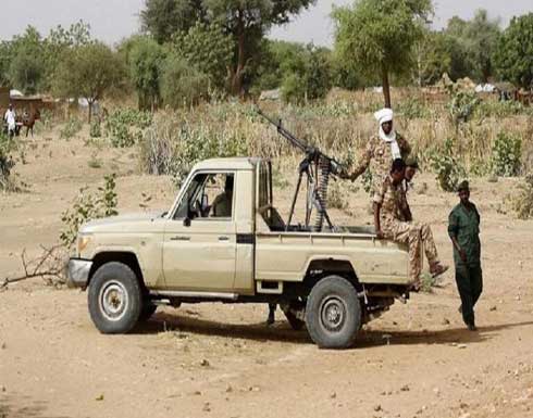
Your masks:
M 360 0 L 333 11 L 337 53 L 369 75 L 381 75 L 385 106 L 391 106 L 391 74 L 412 64 L 414 42 L 432 11 L 431 0 Z

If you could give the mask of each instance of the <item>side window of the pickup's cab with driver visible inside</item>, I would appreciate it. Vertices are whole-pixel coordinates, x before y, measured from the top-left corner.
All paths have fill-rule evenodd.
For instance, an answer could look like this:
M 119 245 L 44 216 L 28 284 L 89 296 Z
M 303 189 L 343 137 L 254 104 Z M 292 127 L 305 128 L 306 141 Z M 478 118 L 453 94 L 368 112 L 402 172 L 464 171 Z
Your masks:
M 184 193 L 174 219 L 209 219 L 233 217 L 233 173 L 199 173 Z

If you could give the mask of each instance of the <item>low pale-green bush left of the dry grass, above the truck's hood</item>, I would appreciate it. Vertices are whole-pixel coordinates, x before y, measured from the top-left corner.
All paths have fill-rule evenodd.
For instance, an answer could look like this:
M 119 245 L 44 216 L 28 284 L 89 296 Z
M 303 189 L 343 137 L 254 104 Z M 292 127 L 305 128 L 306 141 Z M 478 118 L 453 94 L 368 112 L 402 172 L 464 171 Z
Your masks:
M 142 137 L 144 129 L 152 123 L 152 115 L 134 109 L 119 109 L 106 119 L 106 135 L 115 148 L 134 145 Z

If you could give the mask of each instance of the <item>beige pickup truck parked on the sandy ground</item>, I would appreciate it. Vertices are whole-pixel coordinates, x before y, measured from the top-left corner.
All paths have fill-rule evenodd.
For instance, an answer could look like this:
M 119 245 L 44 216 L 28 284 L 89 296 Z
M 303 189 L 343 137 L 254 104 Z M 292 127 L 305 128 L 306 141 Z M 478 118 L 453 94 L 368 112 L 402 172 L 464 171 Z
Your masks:
M 409 297 L 407 248 L 369 227 L 287 227 L 272 191 L 269 160 L 198 163 L 170 211 L 85 224 L 69 282 L 88 289 L 103 333 L 128 332 L 161 304 L 270 303 L 320 347 L 350 346 Z

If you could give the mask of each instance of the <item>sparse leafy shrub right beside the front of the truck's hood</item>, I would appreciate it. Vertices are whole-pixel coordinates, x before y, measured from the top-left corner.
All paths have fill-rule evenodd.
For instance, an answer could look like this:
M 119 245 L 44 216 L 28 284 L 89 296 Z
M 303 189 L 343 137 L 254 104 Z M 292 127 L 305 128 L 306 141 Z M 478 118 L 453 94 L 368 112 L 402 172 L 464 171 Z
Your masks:
M 88 187 L 79 189 L 73 206 L 61 214 L 63 229 L 60 240 L 66 248 L 76 241 L 77 232 L 83 224 L 91 219 L 115 216 L 117 197 L 115 192 L 115 174 L 104 176 L 104 186 L 98 188 L 98 193 L 88 193 Z

